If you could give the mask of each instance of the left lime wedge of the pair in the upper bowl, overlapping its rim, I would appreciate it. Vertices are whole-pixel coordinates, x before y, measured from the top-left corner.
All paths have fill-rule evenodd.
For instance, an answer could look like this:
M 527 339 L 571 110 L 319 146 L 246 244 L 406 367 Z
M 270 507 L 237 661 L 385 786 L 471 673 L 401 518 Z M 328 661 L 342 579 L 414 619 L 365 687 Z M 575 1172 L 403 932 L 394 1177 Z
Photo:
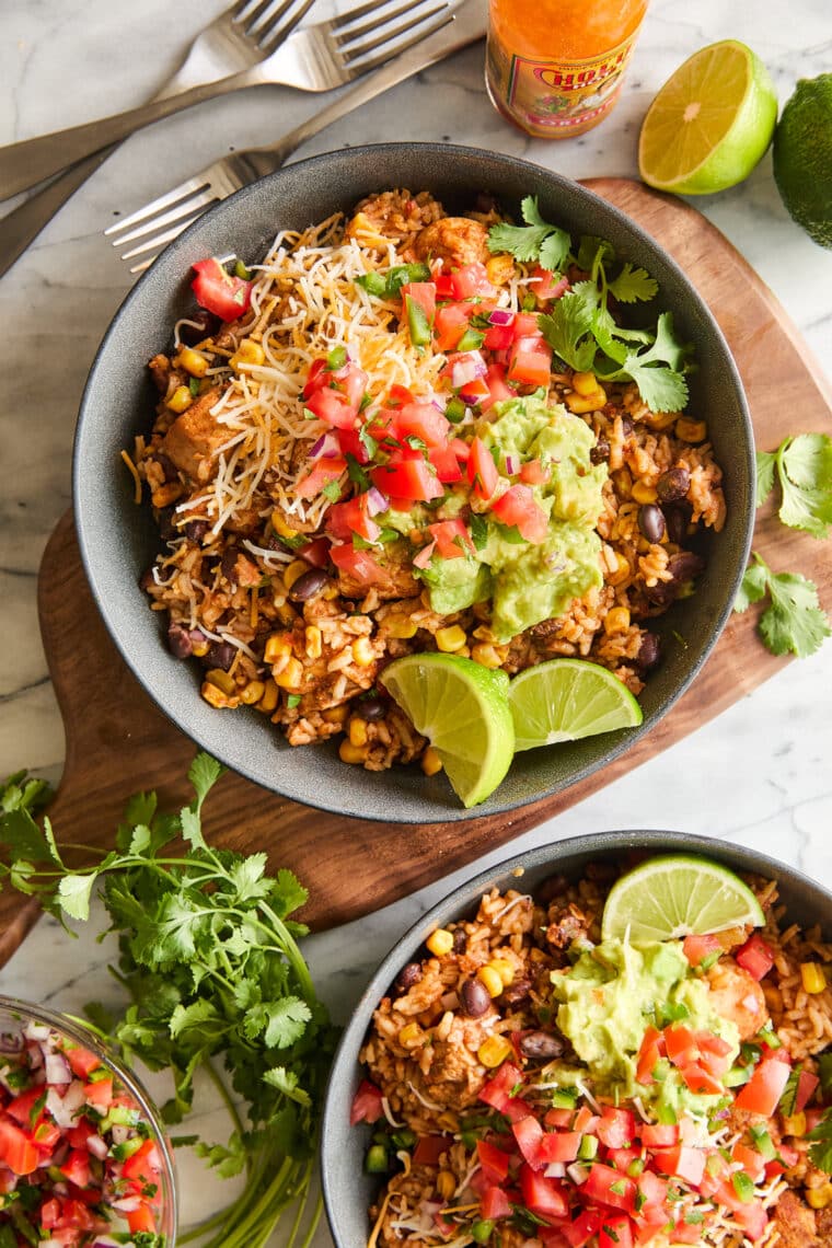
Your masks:
M 494 792 L 514 758 L 506 674 L 454 654 L 408 654 L 382 679 L 435 749 L 463 805 Z

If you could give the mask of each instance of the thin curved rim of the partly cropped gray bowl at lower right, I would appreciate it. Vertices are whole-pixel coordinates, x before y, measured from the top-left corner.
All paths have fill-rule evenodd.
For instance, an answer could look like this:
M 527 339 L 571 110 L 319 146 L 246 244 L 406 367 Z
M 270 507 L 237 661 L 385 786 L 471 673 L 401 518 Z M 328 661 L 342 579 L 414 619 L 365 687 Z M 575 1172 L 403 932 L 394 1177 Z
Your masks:
M 721 837 L 705 836 L 701 832 L 662 829 L 634 827 L 604 830 L 583 832 L 578 836 L 565 837 L 564 840 L 546 841 L 544 845 L 536 845 L 528 850 L 521 850 L 510 857 L 501 859 L 493 866 L 479 871 L 476 875 L 457 885 L 410 924 L 388 950 L 373 971 L 359 1000 L 353 1006 L 349 1021 L 344 1026 L 338 1042 L 329 1072 L 318 1146 L 321 1188 L 327 1222 L 336 1248 L 356 1248 L 354 1244 L 348 1243 L 339 1234 L 338 1212 L 343 1193 L 334 1191 L 333 1186 L 333 1163 L 341 1156 L 338 1139 L 344 1126 L 343 1109 L 349 1104 L 354 1088 L 358 1085 L 358 1076 L 360 1073 L 358 1051 L 367 1035 L 372 1012 L 384 996 L 385 990 L 392 983 L 402 965 L 424 942 L 430 931 L 462 916 L 494 885 L 506 887 L 519 867 L 526 871 L 551 866 L 555 870 L 561 859 L 578 857 L 580 855 L 597 857 L 599 854 L 605 851 L 622 852 L 629 849 L 646 849 L 655 854 L 684 852 L 691 856 L 710 856 L 717 861 L 726 861 L 732 870 L 753 870 L 775 880 L 785 879 L 792 885 L 817 894 L 828 905 L 830 915 L 832 916 L 832 890 L 812 876 L 806 875 L 800 867 Z M 516 879 L 519 881 L 521 876 L 516 876 Z M 832 935 L 832 917 L 830 919 L 830 931 Z M 348 1129 L 352 1128 L 348 1127 Z

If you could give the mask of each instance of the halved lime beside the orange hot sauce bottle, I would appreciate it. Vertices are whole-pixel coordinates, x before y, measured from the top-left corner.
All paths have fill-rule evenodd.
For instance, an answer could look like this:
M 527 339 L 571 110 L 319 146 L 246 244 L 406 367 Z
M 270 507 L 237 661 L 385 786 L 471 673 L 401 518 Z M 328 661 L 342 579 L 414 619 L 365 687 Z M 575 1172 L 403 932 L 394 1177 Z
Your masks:
M 777 95 L 768 71 L 733 39 L 701 47 L 665 82 L 639 139 L 639 172 L 679 195 L 723 191 L 771 142 Z

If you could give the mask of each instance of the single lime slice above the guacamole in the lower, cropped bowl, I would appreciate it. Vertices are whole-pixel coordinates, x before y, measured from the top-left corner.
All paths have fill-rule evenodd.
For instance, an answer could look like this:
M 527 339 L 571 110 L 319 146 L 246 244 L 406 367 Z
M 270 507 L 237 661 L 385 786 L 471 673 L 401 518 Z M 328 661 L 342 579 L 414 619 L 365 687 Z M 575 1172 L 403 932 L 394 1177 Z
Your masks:
M 634 945 L 706 936 L 753 924 L 765 915 L 751 889 L 710 859 L 670 854 L 649 859 L 612 885 L 604 906 L 601 935 Z

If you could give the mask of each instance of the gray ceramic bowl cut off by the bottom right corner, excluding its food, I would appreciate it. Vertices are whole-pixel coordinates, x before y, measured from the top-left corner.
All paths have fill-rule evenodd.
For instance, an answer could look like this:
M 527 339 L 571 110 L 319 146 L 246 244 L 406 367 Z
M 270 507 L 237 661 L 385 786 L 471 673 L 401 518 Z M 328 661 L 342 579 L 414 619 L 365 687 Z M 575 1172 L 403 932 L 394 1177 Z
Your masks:
M 634 850 L 700 854 L 733 870 L 777 880 L 780 897 L 792 917 L 805 927 L 821 924 L 827 938 L 832 938 L 832 894 L 820 884 L 763 854 L 689 832 L 622 831 L 575 836 L 518 854 L 454 889 L 393 946 L 356 1006 L 336 1053 L 324 1106 L 321 1171 L 327 1217 L 337 1248 L 363 1248 L 370 1229 L 367 1211 L 379 1186 L 378 1178 L 364 1171 L 370 1131 L 367 1126 L 351 1127 L 349 1107 L 362 1080 L 358 1052 L 373 1011 L 402 967 L 424 955 L 423 942 L 437 927 L 474 915 L 479 899 L 489 889 L 521 887 L 534 892 L 555 872 L 578 877 L 588 862 L 620 862 Z M 515 874 L 518 870 L 523 871 L 521 882 Z

